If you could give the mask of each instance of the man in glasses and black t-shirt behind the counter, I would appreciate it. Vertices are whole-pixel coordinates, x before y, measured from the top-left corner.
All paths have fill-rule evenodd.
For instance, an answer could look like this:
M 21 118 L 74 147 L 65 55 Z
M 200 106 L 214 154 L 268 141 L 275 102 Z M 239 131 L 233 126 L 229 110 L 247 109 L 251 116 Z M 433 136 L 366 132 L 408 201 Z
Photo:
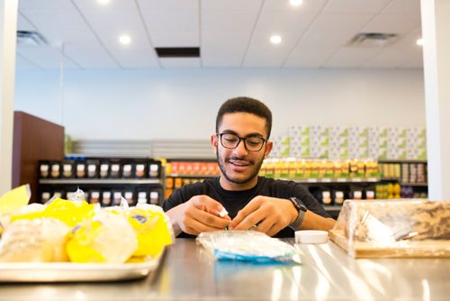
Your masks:
M 273 147 L 271 129 L 272 113 L 257 99 L 220 106 L 211 135 L 220 177 L 180 187 L 164 202 L 175 236 L 229 229 L 293 237 L 296 230 L 332 228 L 335 221 L 301 184 L 258 177 Z

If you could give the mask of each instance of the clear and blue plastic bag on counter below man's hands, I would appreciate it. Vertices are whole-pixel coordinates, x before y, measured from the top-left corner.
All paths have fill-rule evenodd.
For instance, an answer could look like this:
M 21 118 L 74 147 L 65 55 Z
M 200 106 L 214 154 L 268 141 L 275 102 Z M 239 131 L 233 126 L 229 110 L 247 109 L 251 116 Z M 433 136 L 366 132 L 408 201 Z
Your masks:
M 301 263 L 301 252 L 293 245 L 257 231 L 200 233 L 197 243 L 218 260 Z

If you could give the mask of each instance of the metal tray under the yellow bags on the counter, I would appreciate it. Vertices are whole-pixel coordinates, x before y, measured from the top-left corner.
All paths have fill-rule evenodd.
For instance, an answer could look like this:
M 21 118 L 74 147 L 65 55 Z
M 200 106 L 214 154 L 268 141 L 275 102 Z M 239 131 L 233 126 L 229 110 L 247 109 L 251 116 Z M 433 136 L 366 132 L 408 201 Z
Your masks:
M 147 277 L 162 254 L 142 263 L 0 262 L 0 282 L 102 282 Z

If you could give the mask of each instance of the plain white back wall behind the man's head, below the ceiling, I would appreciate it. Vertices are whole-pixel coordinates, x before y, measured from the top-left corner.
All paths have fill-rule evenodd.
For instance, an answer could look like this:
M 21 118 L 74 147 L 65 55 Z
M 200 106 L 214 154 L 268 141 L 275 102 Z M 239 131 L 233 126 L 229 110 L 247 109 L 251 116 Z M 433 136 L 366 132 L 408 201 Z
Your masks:
M 417 69 L 67 70 L 63 94 L 58 71 L 17 71 L 14 109 L 62 119 L 74 139 L 202 139 L 233 96 L 265 102 L 273 135 L 296 124 L 425 126 Z

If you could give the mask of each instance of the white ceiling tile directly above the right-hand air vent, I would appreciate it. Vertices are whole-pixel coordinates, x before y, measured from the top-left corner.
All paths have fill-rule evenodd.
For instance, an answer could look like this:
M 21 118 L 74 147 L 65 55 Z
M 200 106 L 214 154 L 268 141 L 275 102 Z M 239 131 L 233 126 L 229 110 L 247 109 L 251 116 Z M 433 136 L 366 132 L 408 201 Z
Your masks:
M 379 14 L 361 32 L 385 32 L 403 35 L 417 28 L 419 15 Z

